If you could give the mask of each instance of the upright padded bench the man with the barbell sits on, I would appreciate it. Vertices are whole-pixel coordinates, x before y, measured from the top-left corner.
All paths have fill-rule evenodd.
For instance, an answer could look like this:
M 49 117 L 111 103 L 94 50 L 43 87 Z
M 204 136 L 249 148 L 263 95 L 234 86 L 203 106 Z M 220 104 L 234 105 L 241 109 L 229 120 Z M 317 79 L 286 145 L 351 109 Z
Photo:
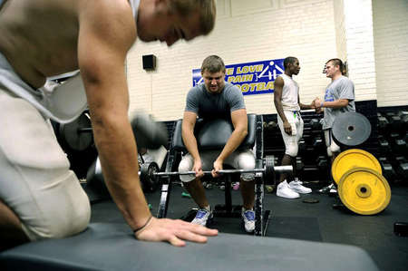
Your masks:
M 166 172 L 171 172 L 176 167 L 175 157 L 180 153 L 187 152 L 181 136 L 182 120 L 176 122 L 171 146 L 168 154 Z M 194 127 L 194 134 L 197 139 L 199 150 L 222 150 L 227 143 L 234 127 L 231 121 L 223 119 L 203 120 L 198 119 Z M 248 135 L 239 145 L 238 149 L 254 149 L 256 168 L 264 168 L 263 160 L 263 118 L 262 115 L 248 114 Z M 226 168 L 227 169 L 227 168 Z M 237 174 L 235 174 L 237 175 Z M 225 180 L 225 205 L 217 205 L 214 208 L 214 217 L 240 218 L 241 206 L 232 206 L 231 203 L 231 179 L 234 174 L 223 176 Z M 254 235 L 265 236 L 267 222 L 269 219 L 269 210 L 264 210 L 264 175 L 260 172 L 255 174 L 255 230 Z M 171 177 L 162 179 L 160 205 L 157 217 L 165 218 L 170 201 Z M 191 220 L 196 215 L 196 210 L 192 210 L 185 217 Z M 191 219 L 189 219 L 191 218 Z

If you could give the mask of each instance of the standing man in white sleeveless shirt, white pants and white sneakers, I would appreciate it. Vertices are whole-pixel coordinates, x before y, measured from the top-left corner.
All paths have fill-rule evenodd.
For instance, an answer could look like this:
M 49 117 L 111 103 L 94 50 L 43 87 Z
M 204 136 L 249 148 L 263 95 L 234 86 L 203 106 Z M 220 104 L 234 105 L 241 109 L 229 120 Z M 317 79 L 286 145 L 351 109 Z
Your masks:
M 299 86 L 292 76 L 300 71 L 299 61 L 296 57 L 288 56 L 284 60 L 285 73 L 277 76 L 275 81 L 274 102 L 277 108 L 277 123 L 285 142 L 285 154 L 282 166 L 292 165 L 293 176 L 281 174 L 277 185 L 277 196 L 282 198 L 299 198 L 299 193 L 306 194 L 312 189 L 302 185 L 296 176 L 296 156 L 299 140 L 303 135 L 303 120 L 301 109 L 313 109 L 313 104 L 303 104 L 299 99 Z M 295 177 L 295 178 L 294 178 Z M 289 178 L 294 178 L 290 179 Z

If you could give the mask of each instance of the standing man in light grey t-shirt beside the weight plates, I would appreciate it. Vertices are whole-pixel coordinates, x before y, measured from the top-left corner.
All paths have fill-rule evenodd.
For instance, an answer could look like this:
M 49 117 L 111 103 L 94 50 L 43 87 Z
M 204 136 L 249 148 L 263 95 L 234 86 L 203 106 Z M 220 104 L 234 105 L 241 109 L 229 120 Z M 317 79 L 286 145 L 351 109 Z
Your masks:
M 355 84 L 344 76 L 345 64 L 338 58 L 325 63 L 325 76 L 331 78 L 325 89 L 325 100 L 316 98 L 314 105 L 316 112 L 323 111 L 323 130 L 325 131 L 325 145 L 327 155 L 332 162 L 340 153 L 340 147 L 335 144 L 332 136 L 332 126 L 335 118 L 347 111 L 355 111 Z M 331 187 L 330 185 L 329 187 Z

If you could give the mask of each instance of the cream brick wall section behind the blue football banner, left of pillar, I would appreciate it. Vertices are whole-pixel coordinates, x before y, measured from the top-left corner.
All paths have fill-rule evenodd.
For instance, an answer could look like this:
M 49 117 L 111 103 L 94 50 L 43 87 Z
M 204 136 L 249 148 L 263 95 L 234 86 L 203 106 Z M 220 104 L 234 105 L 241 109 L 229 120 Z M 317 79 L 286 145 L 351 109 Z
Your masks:
M 160 121 L 182 116 L 186 94 L 192 86 L 191 70 L 209 54 L 219 54 L 226 64 L 267 59 L 299 58 L 296 76 L 302 102 L 322 96 L 328 83 L 323 65 L 336 56 L 333 1 L 217 1 L 214 31 L 192 42 L 165 44 L 138 42 L 128 56 L 131 111 L 143 109 Z M 142 70 L 141 55 L 157 56 L 154 72 Z M 273 94 L 245 96 L 248 112 L 274 113 Z

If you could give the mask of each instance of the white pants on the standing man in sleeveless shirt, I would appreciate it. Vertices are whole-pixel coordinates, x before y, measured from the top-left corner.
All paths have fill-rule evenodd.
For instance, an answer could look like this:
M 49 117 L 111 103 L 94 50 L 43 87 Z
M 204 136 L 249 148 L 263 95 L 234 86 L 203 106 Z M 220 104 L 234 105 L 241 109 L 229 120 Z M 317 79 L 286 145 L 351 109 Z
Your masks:
M 292 128 L 292 135 L 288 135 L 283 127 L 283 121 L 277 114 L 277 124 L 279 125 L 282 138 L 285 143 L 285 154 L 290 157 L 296 157 L 299 141 L 303 136 L 303 120 L 298 111 L 284 111 L 287 121 Z

